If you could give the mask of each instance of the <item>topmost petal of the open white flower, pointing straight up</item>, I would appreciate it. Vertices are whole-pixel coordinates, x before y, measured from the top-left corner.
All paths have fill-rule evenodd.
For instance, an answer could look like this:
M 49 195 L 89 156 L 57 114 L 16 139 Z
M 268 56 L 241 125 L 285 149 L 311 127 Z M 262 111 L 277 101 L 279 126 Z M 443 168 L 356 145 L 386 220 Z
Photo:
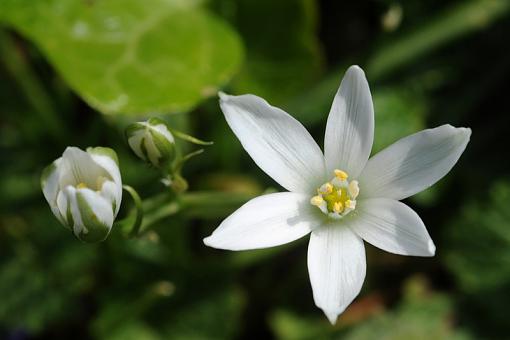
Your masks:
M 346 171 L 356 178 L 363 170 L 374 140 L 374 106 L 365 73 L 351 66 L 345 73 L 329 112 L 324 154 L 328 173 Z

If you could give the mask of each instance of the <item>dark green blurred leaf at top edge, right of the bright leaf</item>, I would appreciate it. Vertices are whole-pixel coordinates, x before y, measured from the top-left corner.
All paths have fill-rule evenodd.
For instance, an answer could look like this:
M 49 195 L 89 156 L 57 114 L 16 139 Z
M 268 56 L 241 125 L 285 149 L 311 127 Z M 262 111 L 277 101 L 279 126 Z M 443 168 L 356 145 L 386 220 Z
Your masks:
M 235 25 L 247 48 L 246 63 L 234 81 L 235 92 L 255 93 L 279 104 L 317 79 L 322 55 L 315 0 L 240 0 L 235 4 Z

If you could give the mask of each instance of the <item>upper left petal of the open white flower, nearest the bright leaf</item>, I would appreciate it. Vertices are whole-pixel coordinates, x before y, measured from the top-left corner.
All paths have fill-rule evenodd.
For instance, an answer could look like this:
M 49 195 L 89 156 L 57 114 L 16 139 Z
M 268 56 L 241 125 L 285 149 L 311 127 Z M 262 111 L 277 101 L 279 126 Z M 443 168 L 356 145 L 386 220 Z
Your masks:
M 220 93 L 220 105 L 244 149 L 285 189 L 311 193 L 325 180 L 319 146 L 289 114 L 254 95 Z

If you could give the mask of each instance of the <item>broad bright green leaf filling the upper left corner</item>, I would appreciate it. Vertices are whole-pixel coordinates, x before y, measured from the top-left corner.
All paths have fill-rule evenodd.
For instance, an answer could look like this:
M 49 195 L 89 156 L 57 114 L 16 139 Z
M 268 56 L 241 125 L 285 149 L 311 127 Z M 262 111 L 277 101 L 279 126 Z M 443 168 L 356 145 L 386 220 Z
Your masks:
M 5 0 L 0 13 L 104 113 L 187 111 L 243 55 L 237 34 L 197 1 Z

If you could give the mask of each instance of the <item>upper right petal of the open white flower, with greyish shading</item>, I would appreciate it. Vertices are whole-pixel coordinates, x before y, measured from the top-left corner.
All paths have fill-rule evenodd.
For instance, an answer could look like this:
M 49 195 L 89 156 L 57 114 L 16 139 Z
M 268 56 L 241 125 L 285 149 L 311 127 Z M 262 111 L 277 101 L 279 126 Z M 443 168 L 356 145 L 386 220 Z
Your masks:
M 471 129 L 442 125 L 402 138 L 368 161 L 361 197 L 401 200 L 430 187 L 455 165 L 470 136 Z

